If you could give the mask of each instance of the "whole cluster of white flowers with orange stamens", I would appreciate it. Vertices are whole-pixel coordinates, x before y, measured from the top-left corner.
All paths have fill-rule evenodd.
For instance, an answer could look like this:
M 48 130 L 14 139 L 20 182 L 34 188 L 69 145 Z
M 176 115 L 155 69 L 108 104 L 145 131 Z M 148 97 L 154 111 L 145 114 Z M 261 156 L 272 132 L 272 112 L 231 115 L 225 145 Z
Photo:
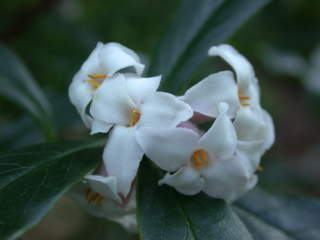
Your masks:
M 255 186 L 260 158 L 274 142 L 272 119 L 247 59 L 229 45 L 209 55 L 234 72 L 211 74 L 177 97 L 157 91 L 161 76 L 141 76 L 132 50 L 98 43 L 69 88 L 91 133 L 110 132 L 103 163 L 73 193 L 91 213 L 134 230 L 134 180 L 144 154 L 166 171 L 159 184 L 183 194 L 233 201 Z M 213 123 L 202 132 L 199 121 Z

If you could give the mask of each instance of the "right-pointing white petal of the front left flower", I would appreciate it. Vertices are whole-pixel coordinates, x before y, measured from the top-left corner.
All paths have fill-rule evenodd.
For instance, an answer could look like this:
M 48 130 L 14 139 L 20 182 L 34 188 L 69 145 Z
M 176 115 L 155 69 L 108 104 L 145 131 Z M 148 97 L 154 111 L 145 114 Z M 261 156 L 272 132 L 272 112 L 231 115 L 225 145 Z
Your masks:
M 140 126 L 175 127 L 193 115 L 191 107 L 169 93 L 157 92 L 141 105 Z

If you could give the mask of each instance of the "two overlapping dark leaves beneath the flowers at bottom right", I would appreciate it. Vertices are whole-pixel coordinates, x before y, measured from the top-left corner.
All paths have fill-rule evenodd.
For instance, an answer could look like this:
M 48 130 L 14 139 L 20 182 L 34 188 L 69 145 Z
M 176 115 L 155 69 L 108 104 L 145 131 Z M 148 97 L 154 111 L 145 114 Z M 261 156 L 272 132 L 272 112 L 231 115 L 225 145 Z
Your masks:
M 137 199 L 142 239 L 319 238 L 320 200 L 257 189 L 229 205 L 205 194 L 184 196 L 168 186 L 158 187 L 160 175 L 147 161 L 140 169 Z

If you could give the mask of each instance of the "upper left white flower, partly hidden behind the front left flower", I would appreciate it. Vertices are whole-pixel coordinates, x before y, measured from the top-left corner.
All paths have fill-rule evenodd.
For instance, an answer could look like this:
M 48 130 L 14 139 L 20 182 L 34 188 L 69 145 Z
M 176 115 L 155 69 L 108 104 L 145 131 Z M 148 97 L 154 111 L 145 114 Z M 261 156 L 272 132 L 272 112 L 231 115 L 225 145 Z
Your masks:
M 144 69 L 138 55 L 132 50 L 119 43 L 99 42 L 74 76 L 69 97 L 88 128 L 91 128 L 92 119 L 86 114 L 86 108 L 95 90 L 105 79 L 128 67 L 133 67 L 137 75 L 141 75 Z

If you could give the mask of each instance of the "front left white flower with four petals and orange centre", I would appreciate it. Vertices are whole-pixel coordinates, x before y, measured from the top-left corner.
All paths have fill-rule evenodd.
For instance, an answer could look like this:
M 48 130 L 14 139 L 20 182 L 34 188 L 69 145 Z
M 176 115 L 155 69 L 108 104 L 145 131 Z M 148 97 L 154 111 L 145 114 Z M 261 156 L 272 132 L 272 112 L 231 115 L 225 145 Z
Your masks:
M 96 132 L 113 127 L 103 160 L 109 176 L 117 178 L 117 189 L 127 196 L 144 151 L 136 140 L 141 127 L 176 127 L 193 112 L 171 94 L 156 92 L 160 77 L 141 78 L 115 74 L 96 90 L 90 114 L 99 122 Z

